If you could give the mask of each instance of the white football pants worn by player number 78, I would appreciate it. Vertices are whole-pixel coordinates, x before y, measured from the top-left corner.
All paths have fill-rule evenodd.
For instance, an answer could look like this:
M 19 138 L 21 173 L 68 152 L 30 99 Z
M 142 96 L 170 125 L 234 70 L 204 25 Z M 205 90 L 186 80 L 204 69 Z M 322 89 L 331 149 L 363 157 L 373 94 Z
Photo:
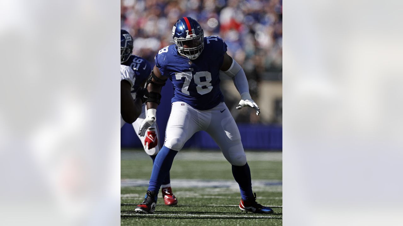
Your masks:
M 235 166 L 246 164 L 241 134 L 224 102 L 210 110 L 197 110 L 185 102 L 172 103 L 164 146 L 175 151 L 197 131 L 204 130 L 220 147 L 226 160 Z

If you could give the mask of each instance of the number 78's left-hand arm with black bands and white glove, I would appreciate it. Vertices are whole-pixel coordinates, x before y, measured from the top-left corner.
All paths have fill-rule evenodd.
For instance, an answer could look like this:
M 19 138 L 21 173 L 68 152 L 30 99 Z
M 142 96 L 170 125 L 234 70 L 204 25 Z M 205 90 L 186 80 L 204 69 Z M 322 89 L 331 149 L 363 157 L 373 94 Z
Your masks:
M 160 104 L 161 100 L 161 88 L 165 85 L 167 79 L 168 78 L 162 76 L 160 70 L 154 66 L 149 79 L 150 83 L 147 85 L 148 98 L 147 101 L 145 101 L 147 103 L 147 116 L 140 126 L 140 136 L 144 136 L 148 127 L 156 121 L 157 106 Z

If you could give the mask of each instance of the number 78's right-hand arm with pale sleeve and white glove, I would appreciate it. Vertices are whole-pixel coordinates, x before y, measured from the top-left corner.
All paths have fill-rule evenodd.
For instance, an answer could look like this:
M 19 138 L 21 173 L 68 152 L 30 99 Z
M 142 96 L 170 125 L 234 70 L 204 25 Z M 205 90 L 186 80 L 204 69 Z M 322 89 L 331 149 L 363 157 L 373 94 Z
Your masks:
M 242 107 L 252 107 L 255 109 L 256 115 L 259 115 L 260 108 L 255 101 L 252 100 L 251 95 L 249 94 L 248 80 L 246 79 L 245 72 L 241 66 L 225 53 L 220 70 L 232 78 L 235 87 L 241 95 L 241 101 L 239 101 L 237 109 L 241 109 Z

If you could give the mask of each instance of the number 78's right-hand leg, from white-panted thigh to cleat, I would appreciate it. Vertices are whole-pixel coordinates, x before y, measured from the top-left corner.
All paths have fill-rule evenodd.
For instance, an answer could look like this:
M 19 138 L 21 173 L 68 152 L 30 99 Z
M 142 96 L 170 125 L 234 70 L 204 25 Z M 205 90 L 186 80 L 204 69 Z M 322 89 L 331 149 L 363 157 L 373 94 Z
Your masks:
M 224 110 L 225 109 L 225 110 Z M 211 109 L 210 126 L 206 130 L 232 165 L 232 173 L 241 191 L 239 208 L 246 212 L 272 213 L 273 210 L 256 202 L 252 192 L 251 173 L 241 142 L 241 134 L 234 118 L 224 103 Z

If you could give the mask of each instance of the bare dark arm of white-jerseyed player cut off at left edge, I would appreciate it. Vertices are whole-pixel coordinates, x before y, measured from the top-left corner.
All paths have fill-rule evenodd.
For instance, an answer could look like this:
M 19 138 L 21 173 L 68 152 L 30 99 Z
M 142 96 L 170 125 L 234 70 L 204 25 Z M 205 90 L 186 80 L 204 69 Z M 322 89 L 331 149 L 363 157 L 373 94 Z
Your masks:
M 133 123 L 141 114 L 141 99 L 133 97 L 130 93 L 131 84 L 127 80 L 120 81 L 120 115 L 127 123 Z

